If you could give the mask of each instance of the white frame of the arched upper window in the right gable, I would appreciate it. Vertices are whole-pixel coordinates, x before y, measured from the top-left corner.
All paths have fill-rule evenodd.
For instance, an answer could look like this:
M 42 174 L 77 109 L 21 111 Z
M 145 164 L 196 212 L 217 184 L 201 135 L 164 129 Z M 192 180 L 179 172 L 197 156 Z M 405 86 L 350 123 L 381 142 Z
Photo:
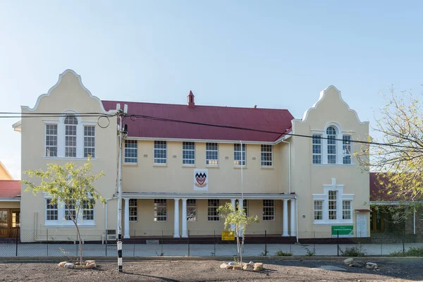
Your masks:
M 336 130 L 336 164 L 328 164 L 328 135 L 326 134 L 327 128 L 332 126 Z M 321 163 L 314 164 L 313 156 L 317 154 L 313 154 L 313 139 L 310 138 L 310 145 L 312 146 L 312 154 L 311 154 L 311 163 L 312 166 L 354 166 L 354 158 L 353 158 L 353 133 L 354 131 L 345 131 L 341 128 L 338 123 L 328 123 L 325 125 L 323 130 L 312 130 L 312 135 L 320 135 L 321 136 Z M 351 163 L 344 164 L 343 163 L 343 136 L 350 136 L 351 137 Z

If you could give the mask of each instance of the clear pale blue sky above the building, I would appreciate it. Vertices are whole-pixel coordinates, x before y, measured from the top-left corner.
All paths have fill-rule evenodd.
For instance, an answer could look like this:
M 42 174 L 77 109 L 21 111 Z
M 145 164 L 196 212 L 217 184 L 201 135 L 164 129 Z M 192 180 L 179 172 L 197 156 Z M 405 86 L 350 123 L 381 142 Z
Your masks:
M 72 68 L 100 99 L 289 109 L 329 85 L 361 120 L 423 83 L 423 1 L 0 0 L 0 111 L 34 106 Z M 0 160 L 20 179 L 20 134 Z

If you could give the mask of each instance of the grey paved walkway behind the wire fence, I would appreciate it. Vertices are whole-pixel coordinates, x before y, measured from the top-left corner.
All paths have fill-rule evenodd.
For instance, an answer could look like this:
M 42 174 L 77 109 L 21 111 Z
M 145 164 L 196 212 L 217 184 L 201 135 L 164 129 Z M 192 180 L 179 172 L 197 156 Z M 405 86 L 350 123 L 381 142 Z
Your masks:
M 355 247 L 354 244 L 340 244 L 341 250 L 346 247 Z M 380 256 L 389 255 L 391 252 L 403 250 L 403 244 L 363 244 L 362 251 L 367 255 Z M 423 247 L 423 243 L 405 243 L 405 250 L 409 247 Z M 237 253 L 236 244 L 175 244 L 175 245 L 145 245 L 145 244 L 123 244 L 124 257 L 223 257 L 233 256 Z M 292 252 L 295 256 L 305 256 L 307 252 L 314 252 L 316 256 L 338 255 L 337 245 L 326 244 L 268 244 L 267 255 L 275 255 L 276 252 Z M 264 244 L 246 244 L 243 254 L 245 256 L 265 255 Z M 82 252 L 85 257 L 115 257 L 116 245 L 84 244 Z M 68 257 L 78 255 L 78 244 L 45 244 L 45 243 L 23 243 L 18 244 L 18 257 Z M 339 255 L 342 255 L 339 252 Z M 16 257 L 16 244 L 0 243 L 0 257 Z

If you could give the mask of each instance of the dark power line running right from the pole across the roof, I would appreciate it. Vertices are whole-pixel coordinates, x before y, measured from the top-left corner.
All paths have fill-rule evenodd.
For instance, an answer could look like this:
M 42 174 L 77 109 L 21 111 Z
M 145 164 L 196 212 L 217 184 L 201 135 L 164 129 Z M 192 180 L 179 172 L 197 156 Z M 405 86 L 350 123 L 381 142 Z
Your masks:
M 296 136 L 296 137 L 307 137 L 307 138 L 316 138 L 313 135 L 303 135 L 303 134 L 295 134 L 295 133 L 287 133 L 288 130 L 290 130 L 291 126 L 285 130 L 285 132 L 277 132 L 277 131 L 271 131 L 271 130 L 260 130 L 255 128 L 242 128 L 238 126 L 232 126 L 232 125 L 218 125 L 218 124 L 212 124 L 212 123 L 198 123 L 195 121 L 181 121 L 177 119 L 172 118 L 158 118 L 154 116 L 142 116 L 142 115 L 128 115 L 129 117 L 135 117 L 135 118 L 146 118 L 152 121 L 170 121 L 175 123 L 188 123 L 192 125 L 204 125 L 204 126 L 212 126 L 216 128 L 228 128 L 228 129 L 236 129 L 236 130 L 248 130 L 248 131 L 255 131 L 259 133 L 272 133 L 272 134 L 278 134 L 278 135 L 290 135 L 290 136 Z M 329 137 L 318 137 L 321 140 L 335 140 L 335 141 L 345 141 L 343 139 L 338 138 L 329 138 Z M 359 144 L 365 144 L 365 145 L 380 145 L 380 146 L 390 146 L 390 147 L 400 147 L 400 148 L 407 148 L 407 149 L 416 149 L 415 147 L 410 147 L 406 145 L 396 145 L 396 144 L 388 144 L 388 143 L 381 143 L 381 142 L 369 142 L 369 141 L 360 141 L 360 140 L 348 140 L 349 142 L 355 142 Z

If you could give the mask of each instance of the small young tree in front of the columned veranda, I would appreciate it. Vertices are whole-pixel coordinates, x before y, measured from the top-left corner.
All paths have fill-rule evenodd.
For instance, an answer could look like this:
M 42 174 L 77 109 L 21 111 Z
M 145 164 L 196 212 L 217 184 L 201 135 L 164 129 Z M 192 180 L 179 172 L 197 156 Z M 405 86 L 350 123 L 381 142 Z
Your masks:
M 251 223 L 259 222 L 256 216 L 247 216 L 245 209 L 241 209 L 239 204 L 233 207 L 231 203 L 226 203 L 217 209 L 219 216 L 225 219 L 225 229 L 229 227 L 229 231 L 234 231 L 236 237 L 236 245 L 238 247 L 238 256 L 240 257 L 240 266 L 243 266 L 243 247 L 245 239 L 245 230 Z M 232 228 L 235 228 L 233 230 Z M 240 242 L 240 236 L 243 238 Z

